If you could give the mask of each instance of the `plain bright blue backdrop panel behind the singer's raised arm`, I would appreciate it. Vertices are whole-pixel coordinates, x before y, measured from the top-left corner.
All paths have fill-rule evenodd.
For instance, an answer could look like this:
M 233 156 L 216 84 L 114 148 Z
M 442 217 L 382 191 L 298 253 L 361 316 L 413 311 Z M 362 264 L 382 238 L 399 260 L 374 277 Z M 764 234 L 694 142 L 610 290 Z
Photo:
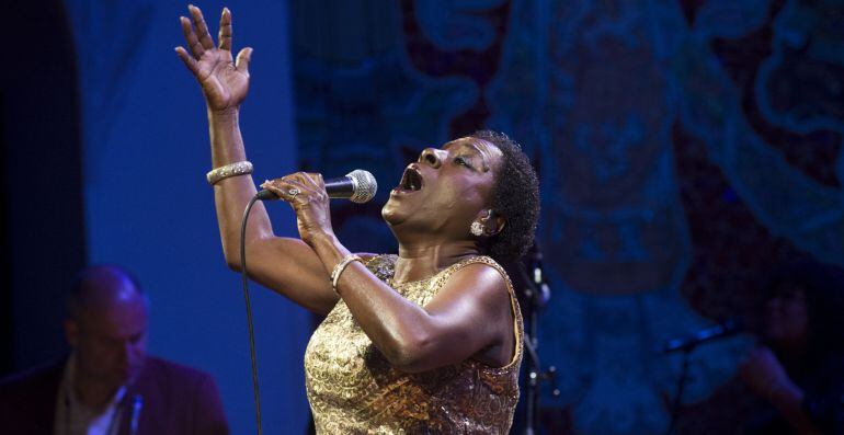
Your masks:
M 216 34 L 224 5 L 235 44 L 254 47 L 242 131 L 255 180 L 296 168 L 287 7 L 203 2 Z M 183 45 L 171 1 L 68 1 L 76 28 L 84 118 L 84 197 L 90 263 L 134 271 L 149 291 L 150 352 L 215 376 L 235 433 L 254 433 L 240 277 L 224 262 L 205 181 L 210 154 L 199 88 L 176 58 Z M 271 206 L 281 234 L 289 207 Z M 303 354 L 309 316 L 252 286 L 264 427 L 303 433 Z

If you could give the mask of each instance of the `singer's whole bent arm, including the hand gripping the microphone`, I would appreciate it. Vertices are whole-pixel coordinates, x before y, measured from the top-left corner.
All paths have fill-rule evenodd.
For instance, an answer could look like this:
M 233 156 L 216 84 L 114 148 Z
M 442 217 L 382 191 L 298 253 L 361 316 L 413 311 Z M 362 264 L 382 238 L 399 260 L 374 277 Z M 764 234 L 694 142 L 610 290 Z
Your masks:
M 319 174 L 296 173 L 264 184 L 288 202 L 303 241 L 326 271 L 349 255 L 331 228 L 328 195 Z M 300 191 L 287 195 L 290 188 Z M 475 357 L 506 364 L 515 336 L 510 294 L 498 271 L 481 264 L 457 271 L 424 308 L 399 295 L 363 264 L 340 275 L 338 293 L 366 335 L 394 367 L 424 371 Z

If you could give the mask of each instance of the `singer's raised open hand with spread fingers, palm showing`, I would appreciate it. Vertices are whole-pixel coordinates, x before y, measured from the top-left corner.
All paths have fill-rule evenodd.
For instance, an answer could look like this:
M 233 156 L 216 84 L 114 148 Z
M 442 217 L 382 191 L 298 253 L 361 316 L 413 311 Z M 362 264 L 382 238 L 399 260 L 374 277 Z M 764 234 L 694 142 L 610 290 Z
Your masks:
M 252 57 L 252 48 L 241 49 L 237 61 L 232 61 L 231 12 L 228 8 L 223 9 L 220 16 L 219 46 L 215 46 L 199 8 L 189 5 L 187 9 L 191 19 L 179 19 L 190 53 L 181 46 L 175 47 L 175 53 L 202 85 L 210 111 L 237 108 L 249 91 L 249 59 Z

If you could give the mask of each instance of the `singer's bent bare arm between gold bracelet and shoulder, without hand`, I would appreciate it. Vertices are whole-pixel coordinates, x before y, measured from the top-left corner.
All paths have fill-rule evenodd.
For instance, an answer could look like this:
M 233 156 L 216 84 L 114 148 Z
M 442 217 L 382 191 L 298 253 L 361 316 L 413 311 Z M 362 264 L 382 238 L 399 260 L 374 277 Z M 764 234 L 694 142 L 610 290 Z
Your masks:
M 483 265 L 450 276 L 424 308 L 401 297 L 360 263 L 338 290 L 376 347 L 397 368 L 425 371 L 476 358 L 490 366 L 512 359 L 516 345 L 504 279 Z

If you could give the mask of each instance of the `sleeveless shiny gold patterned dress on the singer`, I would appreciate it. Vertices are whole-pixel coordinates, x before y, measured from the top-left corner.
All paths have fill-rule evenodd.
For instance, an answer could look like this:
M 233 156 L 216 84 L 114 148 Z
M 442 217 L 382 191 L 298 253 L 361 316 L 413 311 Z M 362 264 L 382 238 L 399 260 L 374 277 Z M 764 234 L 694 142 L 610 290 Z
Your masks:
M 395 262 L 395 255 L 379 255 L 366 266 L 388 282 Z M 318 434 L 507 433 L 518 401 L 524 331 L 504 270 L 488 256 L 475 256 L 394 288 L 424 307 L 453 273 L 476 263 L 494 267 L 506 282 L 516 334 L 510 364 L 495 368 L 467 359 L 424 373 L 402 373 L 389 365 L 340 300 L 305 351 L 305 384 Z

